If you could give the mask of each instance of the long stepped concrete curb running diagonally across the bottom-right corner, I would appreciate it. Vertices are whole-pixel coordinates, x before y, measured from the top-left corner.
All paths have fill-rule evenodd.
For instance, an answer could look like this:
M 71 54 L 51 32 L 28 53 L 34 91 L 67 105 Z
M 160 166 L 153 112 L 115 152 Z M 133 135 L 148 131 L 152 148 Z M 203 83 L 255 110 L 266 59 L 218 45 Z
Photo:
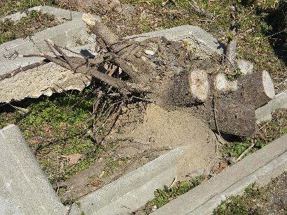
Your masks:
M 286 143 L 283 135 L 152 214 L 212 214 L 228 196 L 241 194 L 253 182 L 267 184 L 286 171 Z

